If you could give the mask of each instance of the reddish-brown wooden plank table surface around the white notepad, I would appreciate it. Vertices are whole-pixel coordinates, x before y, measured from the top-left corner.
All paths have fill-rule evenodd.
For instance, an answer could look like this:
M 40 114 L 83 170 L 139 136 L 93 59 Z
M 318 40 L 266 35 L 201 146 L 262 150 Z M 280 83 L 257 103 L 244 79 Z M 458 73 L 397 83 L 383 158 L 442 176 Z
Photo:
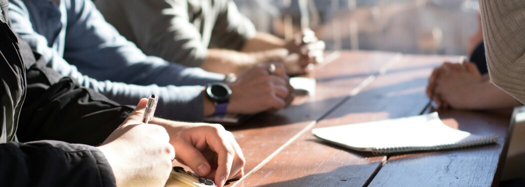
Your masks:
M 314 96 L 276 114 L 228 128 L 243 149 L 245 177 L 230 186 L 497 185 L 508 145 L 509 111 L 439 111 L 450 127 L 497 134 L 497 144 L 460 150 L 374 156 L 317 139 L 312 128 L 427 113 L 424 89 L 434 67 L 459 57 L 341 51 L 309 76 Z M 331 60 L 330 60 L 331 59 Z

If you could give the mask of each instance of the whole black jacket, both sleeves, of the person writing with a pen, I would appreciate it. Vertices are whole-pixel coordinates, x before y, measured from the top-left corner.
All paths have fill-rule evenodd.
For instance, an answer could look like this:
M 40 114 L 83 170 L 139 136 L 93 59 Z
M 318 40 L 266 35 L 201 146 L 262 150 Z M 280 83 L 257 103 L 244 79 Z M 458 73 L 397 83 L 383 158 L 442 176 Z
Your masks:
M 0 186 L 115 186 L 110 164 L 89 145 L 106 139 L 132 108 L 37 63 L 9 29 L 6 6 L 0 0 Z

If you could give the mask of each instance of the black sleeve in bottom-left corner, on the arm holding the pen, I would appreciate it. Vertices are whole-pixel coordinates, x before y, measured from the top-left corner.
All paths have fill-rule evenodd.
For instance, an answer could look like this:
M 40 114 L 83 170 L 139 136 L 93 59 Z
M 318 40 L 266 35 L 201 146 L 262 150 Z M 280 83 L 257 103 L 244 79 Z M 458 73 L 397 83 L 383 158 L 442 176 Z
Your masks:
M 0 144 L 0 186 L 116 186 L 95 147 L 61 141 Z

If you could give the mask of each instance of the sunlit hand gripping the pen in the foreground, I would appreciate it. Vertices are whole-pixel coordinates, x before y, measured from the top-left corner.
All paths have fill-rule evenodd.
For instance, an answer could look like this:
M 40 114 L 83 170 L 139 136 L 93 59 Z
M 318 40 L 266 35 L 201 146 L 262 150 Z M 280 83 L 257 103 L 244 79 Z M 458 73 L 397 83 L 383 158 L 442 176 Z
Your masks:
M 117 186 L 163 186 L 170 176 L 175 151 L 163 127 L 142 123 L 147 101 L 140 100 L 124 123 L 98 147 L 113 170 Z

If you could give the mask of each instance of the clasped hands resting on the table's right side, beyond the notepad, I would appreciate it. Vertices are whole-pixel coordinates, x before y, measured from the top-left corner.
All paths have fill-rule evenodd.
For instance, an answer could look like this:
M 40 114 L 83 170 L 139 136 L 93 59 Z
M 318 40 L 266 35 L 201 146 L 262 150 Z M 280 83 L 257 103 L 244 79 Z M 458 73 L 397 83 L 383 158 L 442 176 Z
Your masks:
M 474 63 L 445 62 L 429 78 L 426 94 L 439 107 L 470 108 L 470 98 L 478 94 L 477 87 L 484 81 Z

